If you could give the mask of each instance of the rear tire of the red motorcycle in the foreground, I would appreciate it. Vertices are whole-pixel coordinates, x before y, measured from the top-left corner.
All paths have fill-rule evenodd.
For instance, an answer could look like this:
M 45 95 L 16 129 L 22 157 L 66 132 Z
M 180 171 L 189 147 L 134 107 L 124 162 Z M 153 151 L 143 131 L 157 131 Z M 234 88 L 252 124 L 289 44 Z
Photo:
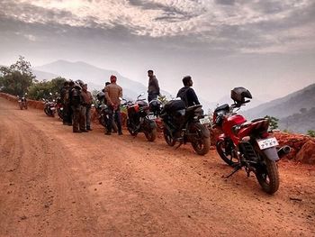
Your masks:
M 256 170 L 259 185 L 267 194 L 274 194 L 279 188 L 279 172 L 274 160 L 265 159 Z

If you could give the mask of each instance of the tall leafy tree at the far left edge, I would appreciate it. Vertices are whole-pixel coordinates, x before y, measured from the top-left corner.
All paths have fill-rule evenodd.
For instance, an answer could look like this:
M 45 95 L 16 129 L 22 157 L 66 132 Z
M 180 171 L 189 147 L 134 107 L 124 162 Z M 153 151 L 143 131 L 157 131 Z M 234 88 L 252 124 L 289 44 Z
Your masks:
M 11 95 L 22 96 L 36 81 L 31 72 L 31 63 L 23 56 L 19 56 L 19 59 L 10 67 L 1 67 L 0 73 L 1 91 Z

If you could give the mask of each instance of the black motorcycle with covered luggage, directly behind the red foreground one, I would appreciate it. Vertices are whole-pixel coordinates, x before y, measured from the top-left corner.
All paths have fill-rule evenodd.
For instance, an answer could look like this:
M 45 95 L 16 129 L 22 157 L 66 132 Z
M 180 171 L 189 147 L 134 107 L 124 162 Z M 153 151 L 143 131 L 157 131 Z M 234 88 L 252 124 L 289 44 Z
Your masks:
M 163 134 L 166 143 L 179 146 L 190 142 L 198 155 L 205 155 L 210 149 L 210 132 L 206 124 L 210 123 L 208 116 L 203 115 L 202 105 L 185 107 L 180 99 L 166 103 L 161 111 L 164 123 Z

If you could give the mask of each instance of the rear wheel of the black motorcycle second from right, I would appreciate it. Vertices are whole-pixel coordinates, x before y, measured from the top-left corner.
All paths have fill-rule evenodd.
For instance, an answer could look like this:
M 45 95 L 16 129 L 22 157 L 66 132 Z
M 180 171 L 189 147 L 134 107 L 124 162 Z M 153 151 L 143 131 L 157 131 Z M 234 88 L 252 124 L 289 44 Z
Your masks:
M 204 156 L 210 150 L 210 139 L 202 135 L 201 131 L 203 129 L 206 128 L 200 123 L 193 123 L 189 128 L 189 133 L 196 133 L 193 139 L 191 139 L 193 150 L 201 156 Z

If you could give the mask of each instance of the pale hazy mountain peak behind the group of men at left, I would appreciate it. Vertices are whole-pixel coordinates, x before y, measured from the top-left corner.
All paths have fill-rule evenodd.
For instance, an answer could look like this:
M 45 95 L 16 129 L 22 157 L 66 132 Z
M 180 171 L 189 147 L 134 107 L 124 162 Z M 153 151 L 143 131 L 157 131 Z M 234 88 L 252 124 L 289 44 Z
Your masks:
M 109 81 L 110 76 L 115 75 L 117 76 L 117 83 L 123 88 L 124 97 L 135 99 L 140 93 L 147 92 L 146 86 L 127 77 L 122 77 L 117 71 L 97 68 L 82 61 L 69 62 L 58 60 L 35 67 L 34 71 L 48 72 L 53 74 L 54 77 L 57 75 L 72 80 L 80 79 L 88 85 L 89 90 L 103 89 L 105 82 Z M 162 94 L 169 96 L 169 93 L 166 91 L 163 91 Z

